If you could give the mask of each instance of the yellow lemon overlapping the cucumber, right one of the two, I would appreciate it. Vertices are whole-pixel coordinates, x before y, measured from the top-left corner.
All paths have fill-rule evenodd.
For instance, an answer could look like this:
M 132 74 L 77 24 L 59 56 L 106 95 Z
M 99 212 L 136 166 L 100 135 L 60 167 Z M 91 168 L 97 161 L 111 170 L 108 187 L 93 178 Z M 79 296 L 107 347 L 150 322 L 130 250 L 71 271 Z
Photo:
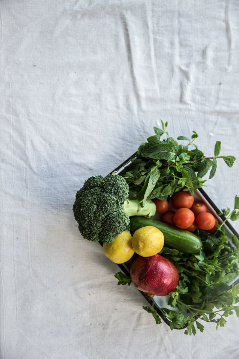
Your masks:
M 133 249 L 142 257 L 154 256 L 162 250 L 163 245 L 163 233 L 152 225 L 137 229 L 132 237 Z

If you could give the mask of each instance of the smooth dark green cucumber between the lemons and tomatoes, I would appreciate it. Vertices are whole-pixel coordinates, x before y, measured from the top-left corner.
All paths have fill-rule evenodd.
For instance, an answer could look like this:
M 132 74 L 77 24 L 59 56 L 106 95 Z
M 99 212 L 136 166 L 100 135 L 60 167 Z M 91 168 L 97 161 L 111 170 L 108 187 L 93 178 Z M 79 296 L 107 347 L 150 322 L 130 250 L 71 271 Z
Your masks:
M 185 254 L 198 253 L 202 248 L 202 241 L 195 234 L 185 229 L 177 229 L 169 224 L 160 222 L 156 219 L 143 216 L 130 217 L 130 232 L 134 233 L 137 229 L 152 225 L 164 235 L 164 244 L 166 246 L 177 249 Z

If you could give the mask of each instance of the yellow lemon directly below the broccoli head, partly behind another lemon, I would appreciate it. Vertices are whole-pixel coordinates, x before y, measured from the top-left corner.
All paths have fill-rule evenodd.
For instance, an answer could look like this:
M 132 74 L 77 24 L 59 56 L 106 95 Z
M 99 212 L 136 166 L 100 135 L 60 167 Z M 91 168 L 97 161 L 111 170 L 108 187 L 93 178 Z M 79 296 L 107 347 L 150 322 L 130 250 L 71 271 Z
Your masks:
M 134 254 L 130 232 L 120 233 L 111 243 L 103 243 L 103 252 L 112 262 L 121 264 L 130 260 Z

